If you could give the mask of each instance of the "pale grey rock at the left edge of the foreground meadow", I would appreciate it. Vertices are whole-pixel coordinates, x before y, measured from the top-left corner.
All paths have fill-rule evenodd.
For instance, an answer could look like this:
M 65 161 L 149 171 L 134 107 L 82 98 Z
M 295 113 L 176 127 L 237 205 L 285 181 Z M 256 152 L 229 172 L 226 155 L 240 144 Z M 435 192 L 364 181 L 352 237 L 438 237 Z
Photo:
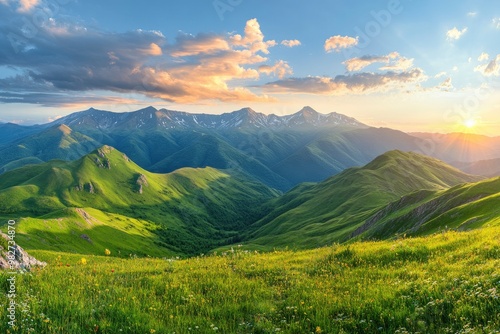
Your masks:
M 0 269 L 3 270 L 30 270 L 33 267 L 45 267 L 47 263 L 38 261 L 33 256 L 29 255 L 24 249 L 22 249 L 18 245 L 11 246 L 10 248 L 6 248 L 8 246 L 7 242 L 9 237 L 0 232 L 0 238 L 2 238 L 2 246 L 0 246 Z M 10 252 L 9 252 L 10 251 Z M 9 256 L 14 256 L 14 259 L 9 263 Z

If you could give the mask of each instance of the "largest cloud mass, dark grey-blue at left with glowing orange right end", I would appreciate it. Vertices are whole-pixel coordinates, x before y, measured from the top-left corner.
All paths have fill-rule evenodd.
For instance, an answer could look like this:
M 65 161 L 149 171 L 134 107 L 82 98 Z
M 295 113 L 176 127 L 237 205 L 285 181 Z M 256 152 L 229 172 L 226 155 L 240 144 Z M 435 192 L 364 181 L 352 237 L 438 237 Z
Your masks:
M 265 39 L 255 19 L 246 23 L 243 36 L 181 33 L 173 43 L 158 31 L 114 33 L 55 20 L 41 26 L 36 38 L 23 37 L 21 29 L 16 21 L 0 23 L 0 63 L 19 73 L 2 79 L 4 103 L 50 105 L 52 98 L 66 104 L 71 94 L 83 101 L 95 91 L 177 103 L 272 101 L 231 84 L 292 73 L 284 61 L 267 64 L 265 55 L 276 42 Z

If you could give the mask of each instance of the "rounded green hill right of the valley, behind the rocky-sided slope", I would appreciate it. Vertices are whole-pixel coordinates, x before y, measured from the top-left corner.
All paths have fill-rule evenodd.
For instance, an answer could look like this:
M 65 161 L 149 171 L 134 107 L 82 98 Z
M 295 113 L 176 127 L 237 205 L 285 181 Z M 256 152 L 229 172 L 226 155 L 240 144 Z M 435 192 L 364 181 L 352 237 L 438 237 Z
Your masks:
M 478 181 L 436 159 L 391 151 L 314 186 L 273 200 L 249 233 L 255 245 L 315 247 L 345 241 L 377 208 L 416 190 Z

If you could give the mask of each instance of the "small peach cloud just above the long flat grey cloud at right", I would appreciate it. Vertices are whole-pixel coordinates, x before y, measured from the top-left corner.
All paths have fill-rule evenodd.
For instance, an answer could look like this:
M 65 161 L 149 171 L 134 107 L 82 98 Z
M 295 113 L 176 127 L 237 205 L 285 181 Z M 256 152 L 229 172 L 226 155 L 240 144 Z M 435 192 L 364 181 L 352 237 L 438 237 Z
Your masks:
M 376 63 L 387 64 L 380 68 L 383 71 L 404 71 L 413 66 L 413 59 L 402 57 L 397 52 L 391 52 L 386 56 L 362 56 L 343 62 L 349 72 L 359 71 Z

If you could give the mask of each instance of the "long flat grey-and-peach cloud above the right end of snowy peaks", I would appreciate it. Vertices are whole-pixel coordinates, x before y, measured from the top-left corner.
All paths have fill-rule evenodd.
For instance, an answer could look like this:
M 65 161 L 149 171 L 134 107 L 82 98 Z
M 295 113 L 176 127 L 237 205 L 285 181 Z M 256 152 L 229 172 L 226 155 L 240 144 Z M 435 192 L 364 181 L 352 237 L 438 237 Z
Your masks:
M 308 93 L 308 94 L 365 94 L 389 90 L 401 90 L 408 85 L 418 84 L 426 80 L 419 68 L 396 73 L 354 73 L 337 75 L 336 77 L 287 78 L 270 82 L 264 86 L 266 91 L 274 93 Z

